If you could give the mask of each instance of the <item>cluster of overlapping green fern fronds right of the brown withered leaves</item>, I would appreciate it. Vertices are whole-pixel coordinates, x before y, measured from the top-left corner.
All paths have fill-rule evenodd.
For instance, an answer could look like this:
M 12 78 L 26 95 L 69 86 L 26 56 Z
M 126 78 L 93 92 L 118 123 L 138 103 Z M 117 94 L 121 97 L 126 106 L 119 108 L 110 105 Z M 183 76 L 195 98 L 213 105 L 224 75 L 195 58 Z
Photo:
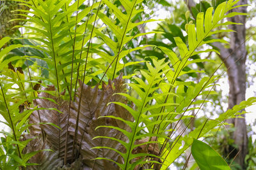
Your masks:
M 152 65 L 154 65 L 156 69 L 153 69 L 153 66 L 147 64 L 150 73 L 144 71 L 141 71 L 140 73 L 140 78 L 145 78 L 145 82 L 147 83 L 142 81 L 140 78 L 134 78 L 134 80 L 136 80 L 138 83 L 129 84 L 129 86 L 131 89 L 137 92 L 139 99 L 129 96 L 128 94 L 120 94 L 127 97 L 129 101 L 133 101 L 136 105 L 134 110 L 123 103 L 116 103 L 127 109 L 131 113 L 132 117 L 134 117 L 134 122 L 122 120 L 131 127 L 132 132 L 124 131 L 118 127 L 109 127 L 118 129 L 118 131 L 123 132 L 129 138 L 129 143 L 122 143 L 122 145 L 124 145 L 127 149 L 127 152 L 118 152 L 124 158 L 124 164 L 118 164 L 121 169 L 131 169 L 138 164 L 143 166 L 143 164 L 145 165 L 146 162 L 148 164 L 150 164 L 150 161 L 154 162 L 154 159 L 147 159 L 148 157 L 154 157 L 154 155 L 147 153 L 147 149 L 145 149 L 145 152 L 138 155 L 132 153 L 132 150 L 136 150 L 136 147 L 143 145 L 143 143 L 141 143 L 140 145 L 134 146 L 134 142 L 136 140 L 149 137 L 149 141 L 145 142 L 144 145 L 148 146 L 150 143 L 156 143 L 157 146 L 160 146 L 161 149 L 159 153 L 155 155 L 155 157 L 160 156 L 159 159 L 161 159 L 161 161 L 159 161 L 158 164 L 163 163 L 162 168 L 166 168 L 175 159 L 177 159 L 177 157 L 179 157 L 179 155 L 184 152 L 186 148 L 188 148 L 187 146 L 191 145 L 193 138 L 198 138 L 199 134 L 196 134 L 196 132 L 200 133 L 200 131 L 195 131 L 195 134 L 193 133 L 193 135 L 191 134 L 191 136 L 185 136 L 184 138 L 182 137 L 182 133 L 178 134 L 178 136 L 174 135 L 173 133 L 177 131 L 177 123 L 179 123 L 180 120 L 188 117 L 185 115 L 185 113 L 189 110 L 189 106 L 191 106 L 191 104 L 201 104 L 205 102 L 204 100 L 201 100 L 196 101 L 195 103 L 195 99 L 198 96 L 211 94 L 211 90 L 205 89 L 211 87 L 211 83 L 214 82 L 218 77 L 205 77 L 198 84 L 193 82 L 177 81 L 177 78 L 183 74 L 198 72 L 195 70 L 185 71 L 184 67 L 188 66 L 189 64 L 206 61 L 202 59 L 189 60 L 191 56 L 203 52 L 219 53 L 214 49 L 198 51 L 198 47 L 213 42 L 227 43 L 227 41 L 223 39 L 212 39 L 211 36 L 218 32 L 232 31 L 225 28 L 220 28 L 221 25 L 237 24 L 233 22 L 223 22 L 223 20 L 225 21 L 225 18 L 233 17 L 234 15 L 246 15 L 244 13 L 234 12 L 227 14 L 227 12 L 231 9 L 238 7 L 234 6 L 237 2 L 238 1 L 229 0 L 225 3 L 221 3 L 218 8 L 216 8 L 214 13 L 212 13 L 213 8 L 208 8 L 205 13 L 198 13 L 196 17 L 196 27 L 195 24 L 188 24 L 188 46 L 182 41 L 181 38 L 174 38 L 179 49 L 179 57 L 172 50 L 159 46 L 159 48 L 163 50 L 166 55 L 168 55 L 170 64 L 164 64 L 163 60 L 154 60 Z M 157 76 L 154 76 L 156 74 Z M 203 90 L 204 92 L 202 92 Z M 173 94 L 173 92 L 176 93 Z M 111 118 L 120 120 L 118 117 Z M 230 118 L 230 115 L 225 118 Z M 173 122 L 176 124 L 173 124 Z M 211 125 L 213 128 L 220 124 Z M 185 130 L 186 129 L 182 129 L 182 131 Z M 168 134 L 167 136 L 166 132 Z M 162 136 L 163 134 L 165 134 L 164 138 Z M 203 134 L 204 133 L 202 133 L 200 136 Z M 173 135 L 176 137 L 172 138 Z M 158 140 L 150 141 L 152 136 L 157 137 Z M 179 152 L 182 141 L 185 141 L 186 147 L 183 147 L 184 149 L 182 148 L 182 152 Z M 138 159 L 132 162 L 132 160 L 135 158 Z M 145 162 L 145 160 L 148 161 Z M 154 166 L 154 168 L 156 167 L 157 166 Z

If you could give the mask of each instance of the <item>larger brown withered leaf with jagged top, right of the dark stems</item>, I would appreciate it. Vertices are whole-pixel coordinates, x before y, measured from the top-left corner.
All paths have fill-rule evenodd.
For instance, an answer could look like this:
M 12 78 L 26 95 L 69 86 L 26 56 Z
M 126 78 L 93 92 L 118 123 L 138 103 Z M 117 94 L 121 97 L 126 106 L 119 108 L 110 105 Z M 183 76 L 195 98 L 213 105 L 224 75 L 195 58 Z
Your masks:
M 115 93 L 124 92 L 125 87 L 123 85 L 123 81 L 124 80 L 122 80 L 121 77 L 118 77 L 113 81 L 109 80 L 108 85 L 103 83 L 102 90 L 100 90 L 97 86 L 92 89 L 92 87 L 89 87 L 88 85 L 83 85 L 83 92 L 81 92 L 82 88 L 80 82 L 80 88 L 77 91 L 76 102 L 72 103 L 72 109 L 76 111 L 72 112 L 72 115 L 70 115 L 71 124 L 69 131 L 70 134 L 74 136 L 76 130 L 76 117 L 77 108 L 79 105 L 79 96 L 82 94 L 76 142 L 77 146 L 81 147 L 80 153 L 83 156 L 84 163 L 89 167 L 94 166 L 95 169 L 118 168 L 115 164 L 113 164 L 113 162 L 110 161 L 92 160 L 97 157 L 105 157 L 115 161 L 122 161 L 122 159 L 118 159 L 120 155 L 118 155 L 116 152 L 113 152 L 112 150 L 91 150 L 90 148 L 95 146 L 108 146 L 124 152 L 124 147 L 112 139 L 97 138 L 92 140 L 92 138 L 96 136 L 109 136 L 117 139 L 123 139 L 124 141 L 126 140 L 124 134 L 116 131 L 115 129 L 100 128 L 95 131 L 95 128 L 99 125 L 114 125 L 128 131 L 130 130 L 126 124 L 119 120 L 117 121 L 109 118 L 99 118 L 105 115 L 114 115 L 116 117 L 122 117 L 125 120 L 132 120 L 131 114 L 121 106 L 116 104 L 108 105 L 108 103 L 111 101 L 124 102 L 122 96 L 113 96 Z

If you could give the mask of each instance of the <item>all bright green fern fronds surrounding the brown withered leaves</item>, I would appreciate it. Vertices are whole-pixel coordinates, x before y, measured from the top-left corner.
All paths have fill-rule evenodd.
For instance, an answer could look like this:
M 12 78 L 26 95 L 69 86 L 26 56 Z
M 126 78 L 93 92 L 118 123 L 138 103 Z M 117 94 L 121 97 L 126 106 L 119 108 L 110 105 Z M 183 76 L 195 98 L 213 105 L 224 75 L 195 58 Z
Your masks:
M 56 136 L 59 136 L 59 139 L 56 140 L 56 143 L 58 143 L 58 149 L 54 152 L 59 154 L 65 150 L 65 156 L 59 154 L 58 159 L 63 159 L 64 164 L 67 164 L 67 154 L 71 154 L 69 151 L 72 150 L 72 159 L 70 159 L 72 163 L 72 160 L 77 158 L 74 156 L 76 150 L 80 150 L 82 147 L 76 146 L 75 141 L 77 138 L 81 138 L 79 125 L 84 122 L 81 113 L 81 108 L 83 108 L 81 105 L 82 92 L 76 93 L 78 87 L 80 91 L 83 91 L 84 83 L 94 87 L 93 90 L 99 90 L 98 87 L 100 88 L 102 81 L 113 80 L 121 72 L 127 73 L 124 78 L 127 78 L 127 82 L 129 82 L 126 84 L 129 92 L 115 94 L 114 97 L 122 96 L 126 100 L 114 100 L 109 105 L 122 106 L 129 112 L 133 121 L 108 114 L 99 117 L 97 120 L 99 122 L 104 122 L 103 120 L 121 121 L 129 128 L 118 127 L 118 123 L 116 126 L 99 124 L 95 131 L 115 129 L 122 132 L 125 137 L 119 139 L 118 137 L 114 138 L 115 136 L 94 136 L 93 140 L 107 138 L 117 141 L 124 147 L 125 152 L 121 149 L 111 148 L 105 143 L 90 148 L 98 151 L 111 150 L 118 153 L 122 159 L 120 162 L 104 157 L 104 155 L 95 158 L 95 160 L 115 162 L 120 169 L 139 167 L 166 169 L 192 145 L 193 139 L 203 137 L 215 127 L 223 125 L 226 119 L 239 115 L 240 110 L 256 102 L 255 98 L 250 98 L 232 110 L 222 113 L 216 120 L 206 120 L 204 125 L 202 124 L 196 127 L 194 131 L 186 134 L 188 125 L 195 118 L 195 116 L 189 115 L 188 111 L 200 110 L 196 107 L 191 108 L 191 105 L 200 105 L 201 107 L 206 102 L 207 96 L 214 94 L 211 88 L 214 86 L 214 81 L 219 78 L 219 76 L 212 74 L 205 76 L 196 83 L 195 81 L 187 81 L 187 75 L 195 76 L 196 73 L 204 73 L 202 70 L 191 69 L 193 64 L 204 68 L 202 62 L 212 62 L 211 60 L 200 59 L 200 54 L 204 52 L 219 53 L 212 48 L 200 51 L 198 50 L 200 47 L 213 42 L 227 43 L 223 39 L 212 39 L 211 36 L 216 33 L 231 31 L 221 27 L 223 25 L 237 24 L 222 22 L 225 18 L 244 15 L 244 13 L 235 12 L 227 14 L 231 9 L 237 8 L 234 5 L 238 1 L 228 0 L 219 4 L 215 10 L 212 7 L 205 8 L 205 13 L 197 14 L 196 25 L 192 22 L 184 25 L 187 27 L 188 36 L 186 37 L 175 25 L 167 24 L 172 31 L 169 33 L 162 27 L 165 31 L 163 36 L 172 42 L 170 46 L 156 41 L 144 46 L 134 45 L 138 38 L 146 34 L 163 33 L 157 31 L 138 32 L 140 25 L 155 21 L 138 19 L 143 16 L 141 14 L 143 12 L 141 9 L 142 0 L 120 0 L 114 3 L 113 1 L 102 0 L 97 3 L 93 1 L 93 4 L 86 2 L 78 0 L 74 3 L 71 0 L 20 1 L 21 4 L 31 10 L 20 10 L 26 13 L 20 14 L 26 18 L 22 19 L 26 24 L 16 27 L 24 27 L 29 31 L 22 35 L 25 38 L 15 39 L 16 45 L 3 48 L 0 52 L 0 112 L 6 121 L 5 124 L 12 129 L 12 132 L 6 133 L 6 138 L 2 139 L 3 148 L 0 148 L 2 169 L 10 166 L 10 164 L 15 165 L 13 169 L 29 166 L 31 165 L 28 163 L 29 159 L 39 152 L 38 150 L 24 153 L 24 148 L 31 141 L 31 138 L 26 139 L 22 136 L 29 132 L 29 127 L 33 125 L 28 122 L 33 111 L 38 113 L 39 122 L 37 125 L 38 129 L 41 128 L 38 136 L 42 136 L 42 139 L 46 140 L 43 125 L 51 125 L 52 128 L 57 127 L 58 134 Z M 166 5 L 166 2 L 163 1 L 162 4 Z M 212 13 L 213 11 L 214 13 Z M 8 41 L 10 38 L 1 39 L 0 47 Z M 135 60 L 131 55 L 132 52 L 139 50 L 143 52 L 143 48 L 152 46 L 157 47 L 156 53 L 145 52 L 150 62 Z M 175 51 L 176 47 L 177 51 Z M 154 56 L 157 54 L 160 57 Z M 127 66 L 134 66 L 141 62 L 145 62 L 145 67 L 138 69 L 136 74 L 130 74 L 125 69 Z M 4 72 L 4 69 L 8 69 L 8 71 Z M 81 80 L 80 84 L 78 80 Z M 109 84 L 111 84 L 110 82 Z M 56 93 L 51 90 L 39 89 L 38 86 L 40 85 L 44 87 L 54 85 Z M 105 83 L 102 84 L 102 89 L 104 86 L 106 86 Z M 117 84 L 114 84 L 113 87 L 109 85 L 108 88 L 115 89 Z M 51 94 L 52 98 L 38 97 L 38 92 Z M 98 91 L 93 91 L 93 95 L 96 94 L 95 96 L 97 96 L 97 93 Z M 101 93 L 102 91 L 99 90 L 99 94 Z M 56 104 L 56 108 L 41 108 L 35 99 L 47 99 Z M 63 129 L 60 129 L 61 116 L 65 115 L 61 115 L 63 108 L 65 108 L 61 106 L 63 101 L 69 105 L 67 106 L 67 122 L 64 122 Z M 70 110 L 74 109 L 72 105 L 74 101 L 77 102 L 75 106 L 77 110 L 76 114 L 73 114 L 76 117 L 72 117 L 72 123 L 76 126 L 72 127 L 71 133 L 68 129 L 68 122 L 70 121 Z M 95 102 L 94 98 L 93 102 Z M 90 106 L 90 104 L 88 105 Z M 24 107 L 23 110 L 20 109 L 21 106 Z M 95 108 L 97 107 L 101 107 L 101 105 L 95 106 Z M 102 107 L 107 108 L 107 106 Z M 40 122 L 40 112 L 37 110 L 58 110 L 55 114 L 55 122 L 58 124 Z M 92 118 L 93 121 L 96 121 L 95 117 Z M 90 121 L 92 120 L 88 120 L 88 122 Z M 185 124 L 186 127 L 180 128 L 180 123 Z M 31 131 L 31 134 L 33 133 L 35 132 Z M 67 135 L 65 140 L 60 139 L 60 136 L 63 135 Z M 71 149 L 67 147 L 68 135 L 74 138 Z M 54 139 L 57 138 L 56 136 Z M 147 140 L 145 141 L 145 139 Z M 194 141 L 194 148 L 198 145 L 201 147 L 202 143 Z M 140 148 L 143 148 L 142 152 Z M 153 148 L 153 151 L 150 148 Z M 205 150 L 209 150 L 209 146 L 205 146 Z M 211 154 L 217 154 L 212 150 L 210 151 Z M 198 155 L 195 150 L 193 152 L 193 154 Z M 198 166 L 202 166 L 200 163 L 203 162 L 197 163 Z

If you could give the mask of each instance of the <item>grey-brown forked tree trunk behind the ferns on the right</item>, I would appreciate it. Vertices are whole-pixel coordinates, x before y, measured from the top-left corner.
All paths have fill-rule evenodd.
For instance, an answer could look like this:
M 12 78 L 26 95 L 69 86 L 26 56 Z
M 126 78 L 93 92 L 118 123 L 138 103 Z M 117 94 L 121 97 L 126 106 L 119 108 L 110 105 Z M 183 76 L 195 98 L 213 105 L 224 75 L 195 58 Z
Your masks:
M 188 0 L 189 10 L 193 0 Z M 241 0 L 237 5 L 247 4 L 247 0 Z M 232 11 L 246 13 L 246 6 L 236 8 Z M 229 96 L 228 96 L 228 109 L 233 108 L 236 104 L 245 100 L 246 92 L 246 72 L 245 72 L 245 60 L 246 60 L 246 16 L 236 15 L 229 18 L 232 22 L 241 23 L 243 25 L 230 25 L 229 29 L 236 32 L 230 33 L 230 48 L 224 48 L 220 43 L 213 43 L 214 46 L 220 49 L 220 58 L 227 67 L 228 83 L 229 83 Z M 242 115 L 245 117 L 245 115 Z M 246 131 L 245 118 L 232 118 L 227 121 L 230 124 L 234 124 L 236 127 L 235 132 L 232 134 L 234 143 L 238 147 L 238 152 L 235 161 L 244 168 L 244 158 L 248 152 L 248 138 Z

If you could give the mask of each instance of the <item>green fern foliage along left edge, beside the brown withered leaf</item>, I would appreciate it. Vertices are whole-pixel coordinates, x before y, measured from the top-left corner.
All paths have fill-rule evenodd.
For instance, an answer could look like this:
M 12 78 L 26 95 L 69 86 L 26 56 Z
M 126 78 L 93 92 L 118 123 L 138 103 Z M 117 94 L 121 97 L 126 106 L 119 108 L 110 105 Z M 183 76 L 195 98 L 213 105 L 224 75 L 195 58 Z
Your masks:
M 5 43 L 8 43 L 9 40 L 10 38 L 8 37 L 1 39 L 0 48 Z M 31 139 L 22 138 L 26 129 L 30 126 L 26 122 L 28 122 L 31 113 L 38 110 L 38 108 L 23 111 L 24 107 L 29 107 L 29 101 L 32 101 L 32 99 L 28 96 L 28 92 L 31 92 L 31 90 L 25 89 L 24 83 L 26 81 L 24 80 L 24 73 L 21 67 L 12 65 L 12 62 L 19 60 L 19 57 L 3 60 L 10 50 L 20 46 L 10 45 L 0 52 L 0 114 L 4 118 L 4 122 L 1 123 L 4 123 L 11 129 L 11 132 L 4 132 L 6 135 L 5 139 L 1 138 L 1 145 L 4 146 L 0 148 L 1 169 L 16 169 L 19 166 L 26 167 L 30 165 L 27 163 L 28 160 L 40 152 L 40 150 L 37 150 L 35 152 L 22 153 L 24 147 L 31 141 Z

